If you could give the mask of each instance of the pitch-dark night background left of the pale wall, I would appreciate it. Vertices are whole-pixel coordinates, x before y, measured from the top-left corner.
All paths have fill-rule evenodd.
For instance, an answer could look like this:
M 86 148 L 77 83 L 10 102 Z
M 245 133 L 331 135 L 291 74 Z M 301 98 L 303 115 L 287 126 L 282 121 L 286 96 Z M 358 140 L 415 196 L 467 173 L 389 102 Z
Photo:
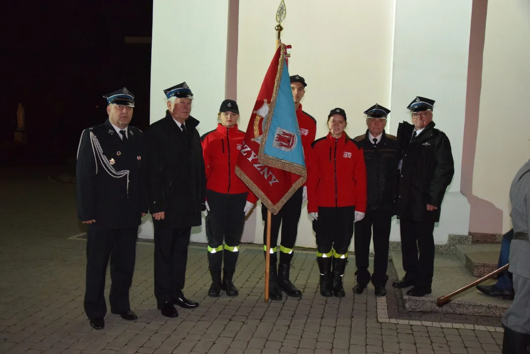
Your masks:
M 131 125 L 149 125 L 151 44 L 126 44 L 125 37 L 151 37 L 152 1 L 10 2 L 4 10 L 4 166 L 71 165 L 83 129 L 107 119 L 103 94 L 122 87 L 136 96 Z M 19 102 L 24 148 L 13 143 Z

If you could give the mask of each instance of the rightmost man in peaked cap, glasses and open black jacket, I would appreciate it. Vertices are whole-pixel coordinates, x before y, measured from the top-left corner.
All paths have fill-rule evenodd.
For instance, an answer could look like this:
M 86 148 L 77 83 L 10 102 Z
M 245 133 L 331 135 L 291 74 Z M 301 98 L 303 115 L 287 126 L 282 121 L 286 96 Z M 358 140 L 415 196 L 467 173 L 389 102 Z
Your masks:
M 434 100 L 416 97 L 407 109 L 412 124 L 398 127 L 402 154 L 399 165 L 398 218 L 405 276 L 392 284 L 407 288 L 409 296 L 431 293 L 434 273 L 434 223 L 440 220 L 440 206 L 455 173 L 451 143 L 432 122 Z M 420 256 L 418 259 L 418 248 Z

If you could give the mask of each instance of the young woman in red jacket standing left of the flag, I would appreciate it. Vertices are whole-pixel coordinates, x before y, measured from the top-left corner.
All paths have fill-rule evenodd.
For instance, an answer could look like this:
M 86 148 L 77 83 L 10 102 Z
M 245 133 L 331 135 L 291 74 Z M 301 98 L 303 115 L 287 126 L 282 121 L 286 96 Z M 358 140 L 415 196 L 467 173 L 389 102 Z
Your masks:
M 218 297 L 221 290 L 228 296 L 238 293 L 232 278 L 239 243 L 245 216 L 258 200 L 235 174 L 237 155 L 245 137 L 245 133 L 237 129 L 238 118 L 237 103 L 224 100 L 219 108 L 217 129 L 201 137 L 206 167 L 206 237 L 212 279 L 208 296 L 211 297 Z

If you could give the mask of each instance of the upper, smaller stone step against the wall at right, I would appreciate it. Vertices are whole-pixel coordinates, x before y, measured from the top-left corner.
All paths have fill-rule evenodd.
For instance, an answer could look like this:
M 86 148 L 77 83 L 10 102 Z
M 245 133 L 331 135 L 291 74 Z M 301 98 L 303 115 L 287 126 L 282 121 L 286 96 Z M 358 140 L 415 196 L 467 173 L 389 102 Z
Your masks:
M 456 257 L 475 277 L 484 277 L 497 269 L 500 244 L 456 245 Z

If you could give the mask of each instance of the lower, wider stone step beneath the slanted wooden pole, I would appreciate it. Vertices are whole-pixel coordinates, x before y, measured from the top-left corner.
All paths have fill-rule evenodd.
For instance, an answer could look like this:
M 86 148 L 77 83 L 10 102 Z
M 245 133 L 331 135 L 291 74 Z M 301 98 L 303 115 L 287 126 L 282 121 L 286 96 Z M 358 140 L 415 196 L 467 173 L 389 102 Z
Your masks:
M 402 266 L 401 252 L 392 251 L 392 264 L 401 279 L 405 275 Z M 436 312 L 460 315 L 475 316 L 496 316 L 504 315 L 510 300 L 492 298 L 484 295 L 476 288 L 468 289 L 455 297 L 447 305 L 438 307 L 436 299 L 458 290 L 476 280 L 470 274 L 465 265 L 452 254 L 437 254 L 434 262 L 434 279 L 432 280 L 432 293 L 424 297 L 407 296 L 409 288 L 402 289 L 404 307 L 412 312 Z M 483 284 L 494 283 L 494 280 L 487 280 Z

